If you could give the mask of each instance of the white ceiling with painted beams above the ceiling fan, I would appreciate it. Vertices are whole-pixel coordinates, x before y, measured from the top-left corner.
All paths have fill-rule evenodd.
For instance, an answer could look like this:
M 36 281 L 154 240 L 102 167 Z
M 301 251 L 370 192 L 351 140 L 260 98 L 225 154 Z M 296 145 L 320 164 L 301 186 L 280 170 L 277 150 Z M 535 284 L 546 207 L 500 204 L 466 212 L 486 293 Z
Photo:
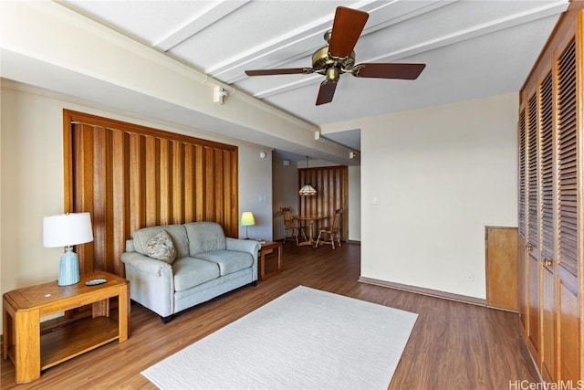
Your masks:
M 567 0 L 59 4 L 318 126 L 516 92 L 568 6 Z M 338 5 L 370 14 L 355 47 L 357 63 L 422 62 L 420 78 L 345 74 L 334 100 L 315 106 L 320 75 L 245 76 L 245 69 L 309 68 Z M 359 132 L 325 136 L 360 150 Z M 310 153 L 294 152 L 300 159 Z

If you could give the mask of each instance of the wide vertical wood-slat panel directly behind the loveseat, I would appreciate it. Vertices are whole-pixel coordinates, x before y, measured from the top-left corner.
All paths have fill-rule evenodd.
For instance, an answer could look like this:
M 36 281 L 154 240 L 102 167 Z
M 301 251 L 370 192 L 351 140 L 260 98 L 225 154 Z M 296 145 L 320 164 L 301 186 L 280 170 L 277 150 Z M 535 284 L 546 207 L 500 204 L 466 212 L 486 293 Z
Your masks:
M 123 276 L 120 255 L 141 227 L 214 221 L 238 235 L 237 147 L 63 111 L 65 210 L 91 213 L 82 273 Z

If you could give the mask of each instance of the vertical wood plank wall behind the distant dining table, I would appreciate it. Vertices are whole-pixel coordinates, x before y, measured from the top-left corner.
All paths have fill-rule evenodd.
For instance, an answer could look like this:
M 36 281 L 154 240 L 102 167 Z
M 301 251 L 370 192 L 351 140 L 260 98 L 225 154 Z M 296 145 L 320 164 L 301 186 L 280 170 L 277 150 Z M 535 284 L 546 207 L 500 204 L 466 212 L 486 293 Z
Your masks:
M 312 184 L 317 190 L 314 196 L 299 196 L 298 214 L 323 215 L 328 219 L 315 221 L 314 232 L 318 235 L 318 227 L 330 226 L 335 210 L 343 208 L 340 219 L 340 239 L 349 239 L 349 168 L 344 165 L 324 166 L 298 169 L 298 188 L 304 184 Z M 308 232 L 307 232 L 308 234 Z

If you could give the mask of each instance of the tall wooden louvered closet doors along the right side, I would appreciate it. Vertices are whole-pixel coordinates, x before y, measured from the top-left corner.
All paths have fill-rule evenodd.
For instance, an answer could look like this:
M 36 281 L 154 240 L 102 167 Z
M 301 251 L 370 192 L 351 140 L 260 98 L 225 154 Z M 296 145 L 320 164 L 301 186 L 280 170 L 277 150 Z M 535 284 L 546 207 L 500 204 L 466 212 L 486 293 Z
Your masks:
M 543 379 L 555 383 L 584 377 L 583 3 L 558 22 L 519 102 L 519 316 Z

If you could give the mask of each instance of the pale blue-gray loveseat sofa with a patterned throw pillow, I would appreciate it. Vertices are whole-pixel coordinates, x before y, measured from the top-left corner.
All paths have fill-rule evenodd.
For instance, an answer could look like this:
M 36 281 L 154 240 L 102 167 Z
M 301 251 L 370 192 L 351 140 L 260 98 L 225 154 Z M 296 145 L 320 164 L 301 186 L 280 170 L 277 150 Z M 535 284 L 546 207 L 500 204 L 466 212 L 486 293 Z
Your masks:
M 126 242 L 121 261 L 130 298 L 158 313 L 172 314 L 257 279 L 255 240 L 224 236 L 214 222 L 144 227 Z

